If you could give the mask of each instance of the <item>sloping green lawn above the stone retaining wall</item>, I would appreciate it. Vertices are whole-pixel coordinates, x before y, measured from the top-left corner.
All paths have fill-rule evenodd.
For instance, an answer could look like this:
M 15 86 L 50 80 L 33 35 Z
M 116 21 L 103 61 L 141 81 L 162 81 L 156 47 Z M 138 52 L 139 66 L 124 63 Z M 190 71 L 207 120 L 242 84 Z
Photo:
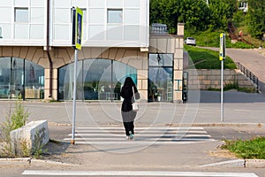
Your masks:
M 218 51 L 201 49 L 189 45 L 185 45 L 185 50 L 189 53 L 196 69 L 221 69 Z M 237 67 L 231 58 L 226 57 L 223 62 L 223 68 L 236 69 Z

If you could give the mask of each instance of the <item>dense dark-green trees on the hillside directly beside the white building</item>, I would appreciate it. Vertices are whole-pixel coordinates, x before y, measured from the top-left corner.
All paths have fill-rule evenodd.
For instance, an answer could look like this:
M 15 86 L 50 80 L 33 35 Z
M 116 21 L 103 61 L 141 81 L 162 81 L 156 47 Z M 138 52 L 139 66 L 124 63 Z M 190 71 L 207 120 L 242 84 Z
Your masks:
M 150 0 L 150 22 L 164 23 L 176 32 L 178 22 L 189 31 L 225 29 L 237 10 L 237 0 Z

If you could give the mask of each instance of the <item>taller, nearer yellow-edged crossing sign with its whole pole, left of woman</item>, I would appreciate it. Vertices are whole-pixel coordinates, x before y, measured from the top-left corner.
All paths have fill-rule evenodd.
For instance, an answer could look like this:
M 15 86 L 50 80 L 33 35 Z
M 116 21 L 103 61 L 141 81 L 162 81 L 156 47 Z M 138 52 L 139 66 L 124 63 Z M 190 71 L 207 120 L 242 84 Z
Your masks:
M 71 144 L 75 143 L 75 115 L 76 115 L 76 80 L 77 80 L 77 65 L 78 65 L 78 50 L 81 50 L 83 30 L 83 12 L 78 8 L 73 8 L 72 11 L 72 47 L 74 49 L 74 71 L 73 71 L 73 91 L 72 91 L 72 140 Z

